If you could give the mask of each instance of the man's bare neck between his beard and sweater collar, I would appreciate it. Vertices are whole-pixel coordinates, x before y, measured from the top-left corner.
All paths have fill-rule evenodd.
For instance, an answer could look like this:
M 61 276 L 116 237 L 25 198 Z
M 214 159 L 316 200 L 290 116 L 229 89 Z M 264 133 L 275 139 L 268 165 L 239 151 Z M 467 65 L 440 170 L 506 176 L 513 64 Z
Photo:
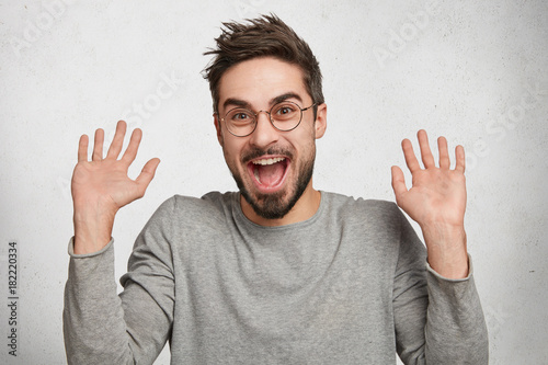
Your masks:
M 320 202 L 321 193 L 312 187 L 312 181 L 310 180 L 307 189 L 289 213 L 278 219 L 267 219 L 258 215 L 246 198 L 240 195 L 240 205 L 243 215 L 252 223 L 265 227 L 286 226 L 307 220 L 318 212 Z

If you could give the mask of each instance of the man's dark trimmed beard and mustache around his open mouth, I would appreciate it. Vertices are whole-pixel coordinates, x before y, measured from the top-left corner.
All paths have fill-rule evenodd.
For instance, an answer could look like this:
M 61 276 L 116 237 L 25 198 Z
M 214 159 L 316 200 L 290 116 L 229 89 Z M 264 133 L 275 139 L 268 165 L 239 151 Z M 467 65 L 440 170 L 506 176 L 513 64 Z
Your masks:
M 253 150 L 249 153 L 246 153 L 246 157 L 242 158 L 242 166 L 246 166 L 243 161 L 249 161 L 255 157 L 260 157 L 263 155 L 275 155 L 281 153 L 285 156 L 292 156 L 292 153 L 283 152 L 283 151 L 260 151 Z M 301 160 L 301 166 L 297 171 L 297 180 L 293 184 L 293 186 L 288 186 L 287 190 L 282 190 L 272 194 L 251 194 L 251 192 L 246 187 L 243 183 L 243 179 L 236 168 L 228 167 L 232 176 L 240 190 L 240 194 L 243 196 L 246 202 L 253 208 L 256 215 L 265 219 L 279 219 L 285 217 L 287 213 L 289 213 L 295 204 L 302 196 L 302 193 L 306 191 L 310 180 L 312 179 L 313 173 L 313 162 L 316 159 L 316 149 L 312 146 L 311 152 L 309 156 Z M 293 161 L 293 159 L 292 159 Z M 287 194 L 290 194 L 286 197 Z

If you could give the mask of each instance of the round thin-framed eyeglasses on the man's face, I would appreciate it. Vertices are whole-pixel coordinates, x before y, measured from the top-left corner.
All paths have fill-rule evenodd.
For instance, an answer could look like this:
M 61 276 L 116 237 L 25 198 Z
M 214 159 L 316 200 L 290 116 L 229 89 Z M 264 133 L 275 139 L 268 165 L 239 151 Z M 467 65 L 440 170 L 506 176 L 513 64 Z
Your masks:
M 259 111 L 253 113 L 246 107 L 235 107 L 227 112 L 224 118 L 228 132 L 237 137 L 247 137 L 256 128 L 256 118 L 259 113 L 269 114 L 271 124 L 274 128 L 282 132 L 289 132 L 297 128 L 302 119 L 302 112 L 316 106 L 316 103 L 308 107 L 300 107 L 294 102 L 283 101 L 271 107 L 270 112 Z

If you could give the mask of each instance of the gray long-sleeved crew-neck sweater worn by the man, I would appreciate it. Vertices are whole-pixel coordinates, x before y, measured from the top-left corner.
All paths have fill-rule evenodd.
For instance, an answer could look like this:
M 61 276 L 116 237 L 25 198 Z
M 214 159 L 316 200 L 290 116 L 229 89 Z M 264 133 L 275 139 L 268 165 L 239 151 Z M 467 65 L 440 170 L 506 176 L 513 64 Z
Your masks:
M 487 364 L 473 280 L 446 280 L 393 203 L 322 193 L 310 219 L 248 220 L 238 193 L 163 203 L 116 295 L 114 249 L 69 244 L 69 364 Z M 471 266 L 470 266 L 471 267 Z

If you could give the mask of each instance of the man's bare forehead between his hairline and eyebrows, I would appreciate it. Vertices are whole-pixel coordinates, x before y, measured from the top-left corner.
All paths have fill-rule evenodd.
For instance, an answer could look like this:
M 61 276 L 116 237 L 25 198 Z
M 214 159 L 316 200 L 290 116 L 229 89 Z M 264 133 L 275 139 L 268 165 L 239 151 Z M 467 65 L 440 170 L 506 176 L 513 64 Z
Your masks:
M 311 98 L 306 91 L 302 70 L 289 62 L 261 57 L 242 61 L 229 68 L 219 82 L 219 109 L 228 99 L 244 101 L 263 109 L 276 96 L 295 93 L 304 102 Z

